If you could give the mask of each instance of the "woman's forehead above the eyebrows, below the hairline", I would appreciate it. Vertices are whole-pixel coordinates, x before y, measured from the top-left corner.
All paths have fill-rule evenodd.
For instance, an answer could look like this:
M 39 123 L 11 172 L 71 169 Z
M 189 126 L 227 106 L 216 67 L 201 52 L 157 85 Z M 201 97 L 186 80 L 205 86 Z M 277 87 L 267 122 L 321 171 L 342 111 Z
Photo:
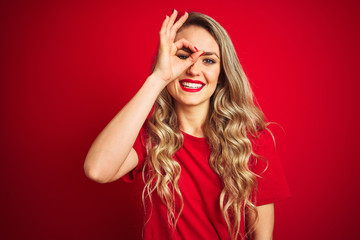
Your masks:
M 205 52 L 215 52 L 218 56 L 220 56 L 220 49 L 216 40 L 202 27 L 190 25 L 182 28 L 176 34 L 175 41 L 182 38 L 190 41 L 199 50 L 204 50 Z

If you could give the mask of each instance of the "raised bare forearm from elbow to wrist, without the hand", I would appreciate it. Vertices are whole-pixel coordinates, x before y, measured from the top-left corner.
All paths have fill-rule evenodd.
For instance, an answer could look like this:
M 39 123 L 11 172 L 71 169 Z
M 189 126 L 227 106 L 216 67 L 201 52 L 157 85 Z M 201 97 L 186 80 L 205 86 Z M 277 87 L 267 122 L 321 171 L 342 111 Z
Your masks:
M 165 85 L 162 79 L 149 76 L 136 95 L 97 136 L 84 163 L 84 170 L 90 178 L 106 182 L 119 171 Z

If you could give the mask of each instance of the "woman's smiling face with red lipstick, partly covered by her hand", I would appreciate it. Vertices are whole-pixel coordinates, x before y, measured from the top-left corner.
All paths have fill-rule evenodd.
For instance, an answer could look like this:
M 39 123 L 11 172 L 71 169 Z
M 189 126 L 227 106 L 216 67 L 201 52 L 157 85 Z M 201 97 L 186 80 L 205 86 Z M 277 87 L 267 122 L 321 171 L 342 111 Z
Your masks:
M 186 39 L 205 53 L 179 78 L 168 84 L 167 89 L 175 104 L 185 106 L 209 106 L 220 75 L 220 49 L 211 34 L 202 27 L 187 26 L 177 33 L 175 41 Z M 189 49 L 181 49 L 176 55 L 180 59 L 190 56 Z

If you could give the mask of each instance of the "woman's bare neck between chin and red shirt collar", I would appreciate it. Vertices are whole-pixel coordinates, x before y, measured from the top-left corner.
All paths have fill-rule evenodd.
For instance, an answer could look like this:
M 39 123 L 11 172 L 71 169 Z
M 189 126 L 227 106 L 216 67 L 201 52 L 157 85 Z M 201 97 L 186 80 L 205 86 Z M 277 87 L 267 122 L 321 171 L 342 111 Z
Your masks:
M 209 112 L 209 103 L 200 106 L 175 104 L 180 130 L 195 137 L 205 137 L 203 125 Z

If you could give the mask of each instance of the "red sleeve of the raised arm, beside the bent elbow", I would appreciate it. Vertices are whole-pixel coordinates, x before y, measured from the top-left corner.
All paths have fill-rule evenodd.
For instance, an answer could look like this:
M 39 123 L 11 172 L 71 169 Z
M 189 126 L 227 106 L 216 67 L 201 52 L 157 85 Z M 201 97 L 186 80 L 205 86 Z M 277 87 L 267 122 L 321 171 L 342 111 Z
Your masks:
M 144 165 L 144 161 L 146 158 L 146 139 L 147 139 L 146 128 L 147 128 L 147 122 L 145 121 L 133 145 L 133 148 L 138 155 L 138 164 L 133 170 L 131 170 L 122 177 L 122 179 L 125 182 L 130 183 L 134 181 L 136 175 L 142 171 L 142 167 Z

